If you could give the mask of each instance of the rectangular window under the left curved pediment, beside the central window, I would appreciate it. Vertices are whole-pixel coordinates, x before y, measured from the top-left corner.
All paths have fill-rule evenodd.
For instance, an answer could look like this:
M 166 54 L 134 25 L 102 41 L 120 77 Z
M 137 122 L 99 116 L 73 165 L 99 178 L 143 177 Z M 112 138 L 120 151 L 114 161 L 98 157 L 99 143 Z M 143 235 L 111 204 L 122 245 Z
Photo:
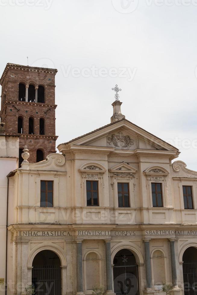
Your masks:
M 86 181 L 87 206 L 99 206 L 98 181 Z

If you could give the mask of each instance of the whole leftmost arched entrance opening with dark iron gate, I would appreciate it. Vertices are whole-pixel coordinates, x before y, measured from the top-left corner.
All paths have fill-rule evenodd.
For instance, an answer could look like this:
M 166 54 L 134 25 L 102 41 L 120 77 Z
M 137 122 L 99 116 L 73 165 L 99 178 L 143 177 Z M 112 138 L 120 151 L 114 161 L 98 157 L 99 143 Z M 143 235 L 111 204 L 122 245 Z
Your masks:
M 61 262 L 50 250 L 39 252 L 33 259 L 32 284 L 36 295 L 61 295 Z

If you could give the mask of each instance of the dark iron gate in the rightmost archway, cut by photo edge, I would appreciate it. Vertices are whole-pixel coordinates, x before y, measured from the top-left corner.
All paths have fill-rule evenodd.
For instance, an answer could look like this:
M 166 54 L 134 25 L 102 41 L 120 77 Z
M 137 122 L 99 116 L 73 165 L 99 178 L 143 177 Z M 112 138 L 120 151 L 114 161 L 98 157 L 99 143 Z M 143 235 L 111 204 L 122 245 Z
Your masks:
M 197 260 L 183 262 L 183 282 L 185 295 L 197 295 Z

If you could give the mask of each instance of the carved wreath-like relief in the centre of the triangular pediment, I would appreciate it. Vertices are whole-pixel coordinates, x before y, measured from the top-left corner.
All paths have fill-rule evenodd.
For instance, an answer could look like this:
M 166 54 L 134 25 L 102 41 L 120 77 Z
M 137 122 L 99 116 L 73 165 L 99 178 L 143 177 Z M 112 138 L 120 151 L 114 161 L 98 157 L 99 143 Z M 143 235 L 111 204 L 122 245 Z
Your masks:
M 127 134 L 122 131 L 113 133 L 107 137 L 107 143 L 109 146 L 120 148 L 120 149 L 129 149 L 134 145 L 134 140 Z

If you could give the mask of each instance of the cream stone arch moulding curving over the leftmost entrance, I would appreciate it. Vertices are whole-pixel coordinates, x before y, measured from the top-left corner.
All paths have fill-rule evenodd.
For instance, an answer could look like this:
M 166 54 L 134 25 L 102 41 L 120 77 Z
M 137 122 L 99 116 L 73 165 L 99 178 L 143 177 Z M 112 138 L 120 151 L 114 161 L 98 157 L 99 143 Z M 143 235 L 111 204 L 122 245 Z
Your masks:
M 66 258 L 64 256 L 64 254 L 62 253 L 61 250 L 57 249 L 56 247 L 53 246 L 42 246 L 42 247 L 38 247 L 37 249 L 35 249 L 29 256 L 29 259 L 27 261 L 27 267 L 31 268 L 32 267 L 32 263 L 33 263 L 33 259 L 36 257 L 36 255 L 43 251 L 43 250 L 50 250 L 52 252 L 54 252 L 55 254 L 58 255 L 60 261 L 61 261 L 61 266 L 67 266 L 67 262 L 66 262 Z

